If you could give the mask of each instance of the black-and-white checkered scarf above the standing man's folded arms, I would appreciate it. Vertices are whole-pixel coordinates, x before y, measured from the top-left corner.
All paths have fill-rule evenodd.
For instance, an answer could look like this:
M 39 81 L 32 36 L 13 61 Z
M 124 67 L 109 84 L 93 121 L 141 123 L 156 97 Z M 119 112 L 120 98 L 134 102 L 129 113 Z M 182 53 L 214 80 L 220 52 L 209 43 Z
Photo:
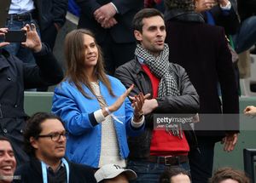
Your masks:
M 143 49 L 142 45 L 137 44 L 135 55 L 144 61 L 156 77 L 160 78 L 158 96 L 180 95 L 177 83 L 169 69 L 169 47 L 167 44 L 158 57 L 154 57 L 147 49 Z

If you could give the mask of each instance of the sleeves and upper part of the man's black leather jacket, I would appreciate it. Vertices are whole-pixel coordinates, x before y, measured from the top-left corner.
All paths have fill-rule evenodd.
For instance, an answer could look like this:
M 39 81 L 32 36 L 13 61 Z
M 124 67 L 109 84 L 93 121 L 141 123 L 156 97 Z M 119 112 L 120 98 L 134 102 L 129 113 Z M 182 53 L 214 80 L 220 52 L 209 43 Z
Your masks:
M 139 70 L 137 67 L 140 66 L 136 63 L 137 60 L 132 60 L 130 63 L 126 63 L 120 66 L 115 71 L 115 77 L 129 88 L 132 83 L 134 83 L 135 88 L 131 91 L 131 96 L 143 92 L 143 94 L 151 94 L 152 88 L 150 79 L 143 71 Z M 145 116 L 146 127 L 149 126 L 153 128 L 154 113 L 189 113 L 195 114 L 199 111 L 199 96 L 195 91 L 194 86 L 189 81 L 189 77 L 183 67 L 173 65 L 173 72 L 177 78 L 177 84 L 180 89 L 180 96 L 166 96 L 157 98 L 159 106 L 154 110 L 153 113 Z

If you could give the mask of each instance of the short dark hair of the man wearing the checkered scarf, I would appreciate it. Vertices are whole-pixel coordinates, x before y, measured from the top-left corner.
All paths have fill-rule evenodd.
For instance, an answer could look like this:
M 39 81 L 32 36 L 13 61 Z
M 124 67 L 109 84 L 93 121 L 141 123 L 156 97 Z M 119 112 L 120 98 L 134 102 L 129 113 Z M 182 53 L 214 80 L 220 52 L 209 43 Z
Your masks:
M 164 14 L 157 9 L 142 9 L 135 14 L 132 20 L 133 30 L 143 32 L 143 19 L 160 16 L 164 20 Z

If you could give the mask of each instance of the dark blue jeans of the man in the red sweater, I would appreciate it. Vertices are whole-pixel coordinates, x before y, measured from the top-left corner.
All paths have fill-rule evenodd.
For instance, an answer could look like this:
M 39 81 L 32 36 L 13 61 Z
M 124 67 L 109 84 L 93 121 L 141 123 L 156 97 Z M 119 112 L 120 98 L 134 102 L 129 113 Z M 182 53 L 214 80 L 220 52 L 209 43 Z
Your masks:
M 172 167 L 180 167 L 188 172 L 189 163 L 180 163 L 175 166 L 166 166 L 160 163 L 148 163 L 144 160 L 128 161 L 127 169 L 132 169 L 137 174 L 137 180 L 131 181 L 131 183 L 156 183 L 160 180 L 160 175 L 165 171 L 165 169 L 170 169 Z

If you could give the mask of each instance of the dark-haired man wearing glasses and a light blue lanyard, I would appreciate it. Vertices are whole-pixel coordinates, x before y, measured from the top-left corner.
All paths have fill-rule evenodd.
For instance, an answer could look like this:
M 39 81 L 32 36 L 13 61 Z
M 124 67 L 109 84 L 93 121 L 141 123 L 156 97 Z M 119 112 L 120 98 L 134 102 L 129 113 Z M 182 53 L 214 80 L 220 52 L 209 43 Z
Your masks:
M 96 182 L 90 167 L 64 157 L 67 132 L 59 117 L 45 112 L 34 114 L 27 121 L 24 140 L 30 162 L 16 170 L 20 180 L 14 182 Z

